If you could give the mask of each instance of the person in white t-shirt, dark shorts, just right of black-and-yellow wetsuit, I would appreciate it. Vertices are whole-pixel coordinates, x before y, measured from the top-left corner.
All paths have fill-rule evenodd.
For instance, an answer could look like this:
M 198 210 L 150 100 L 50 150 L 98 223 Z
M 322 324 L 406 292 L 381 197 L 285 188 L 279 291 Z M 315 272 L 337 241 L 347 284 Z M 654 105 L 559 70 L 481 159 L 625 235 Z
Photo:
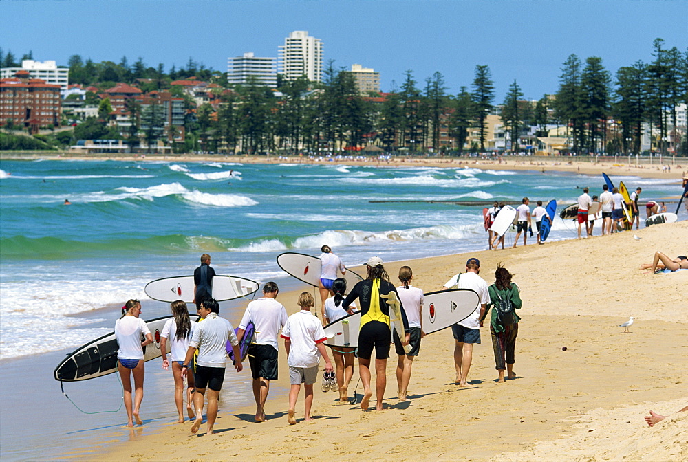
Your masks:
M 411 280 L 413 279 L 413 270 L 409 266 L 402 266 L 399 269 L 399 281 L 401 285 L 397 287 L 397 294 L 401 305 L 406 311 L 406 317 L 409 320 L 409 331 L 411 333 L 411 351 L 406 353 L 404 347 L 400 342 L 394 342 L 396 354 L 399 360 L 396 364 L 396 384 L 399 391 L 399 400 L 406 401 L 407 389 L 409 382 L 411 382 L 411 369 L 413 367 L 413 359 L 420 353 L 420 339 L 425 336 L 423 332 L 423 291 L 419 287 L 413 287 Z

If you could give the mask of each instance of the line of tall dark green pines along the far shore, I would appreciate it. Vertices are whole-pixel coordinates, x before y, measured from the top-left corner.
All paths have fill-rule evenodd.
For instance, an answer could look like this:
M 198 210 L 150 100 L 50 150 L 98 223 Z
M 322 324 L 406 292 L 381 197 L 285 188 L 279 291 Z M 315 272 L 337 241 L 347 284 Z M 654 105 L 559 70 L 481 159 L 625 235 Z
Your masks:
M 13 60 L 11 52 L 0 50 L 3 67 L 16 64 Z M 440 128 L 446 128 L 458 140 L 453 147 L 458 153 L 464 151 L 471 129 L 477 132 L 471 150 L 484 152 L 485 121 L 489 114 L 497 113 L 510 151 L 519 150 L 519 140 L 530 126 L 536 127 L 537 136 L 546 136 L 546 127 L 557 124 L 566 127 L 574 153 L 639 153 L 643 124 L 647 123 L 651 138 L 654 135 L 659 140 L 660 151 L 666 153 L 672 141 L 676 151 L 688 153 L 685 133 L 676 131 L 677 108 L 688 104 L 688 50 L 668 48 L 662 39 L 654 41 L 650 63 L 636 61 L 614 75 L 599 56 L 583 61 L 572 54 L 561 67 L 555 94 L 545 94 L 537 102 L 524 100 L 514 80 L 501 104 L 495 103 L 488 65 L 477 65 L 470 88 L 460 87 L 458 94 L 449 94 L 440 72 L 419 83 L 409 69 L 400 87 L 392 83 L 389 93 L 380 96 L 359 94 L 352 74 L 335 68 L 333 61 L 325 66 L 321 83 L 279 76 L 279 94 L 255 82 L 230 87 L 224 73 L 193 58 L 169 72 L 162 64 L 147 66 L 142 58 L 130 65 L 126 56 L 119 63 L 94 63 L 74 55 L 68 64 L 70 83 L 107 89 L 125 82 L 143 91 L 169 89 L 185 98 L 187 141 L 174 146 L 178 151 L 234 151 L 242 146 L 248 153 L 302 148 L 322 152 L 334 151 L 337 146 L 361 148 L 370 142 L 385 151 L 444 151 L 449 147 L 440 142 Z M 171 86 L 174 80 L 191 77 L 217 83 L 219 105 L 196 107 L 182 88 Z M 97 101 L 95 95 L 89 98 Z M 100 135 L 131 137 L 141 126 L 146 127 L 145 135 L 151 141 L 169 135 L 160 129 L 162 118 L 147 110 L 149 113 L 143 114 L 131 107 L 136 118 L 132 118 L 135 123 L 129 133 L 118 133 L 100 118 L 74 135 L 88 128 Z

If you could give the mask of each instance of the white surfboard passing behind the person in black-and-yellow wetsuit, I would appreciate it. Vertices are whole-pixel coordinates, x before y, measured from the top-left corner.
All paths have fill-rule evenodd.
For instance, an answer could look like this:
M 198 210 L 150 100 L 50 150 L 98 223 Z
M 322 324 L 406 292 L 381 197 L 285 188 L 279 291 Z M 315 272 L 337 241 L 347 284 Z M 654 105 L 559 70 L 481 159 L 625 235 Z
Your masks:
M 397 289 L 402 290 L 402 289 Z M 471 289 L 452 289 L 424 294 L 422 312 L 426 334 L 447 329 L 471 316 L 480 296 Z M 358 347 L 361 312 L 345 316 L 325 326 L 325 344 L 330 347 Z

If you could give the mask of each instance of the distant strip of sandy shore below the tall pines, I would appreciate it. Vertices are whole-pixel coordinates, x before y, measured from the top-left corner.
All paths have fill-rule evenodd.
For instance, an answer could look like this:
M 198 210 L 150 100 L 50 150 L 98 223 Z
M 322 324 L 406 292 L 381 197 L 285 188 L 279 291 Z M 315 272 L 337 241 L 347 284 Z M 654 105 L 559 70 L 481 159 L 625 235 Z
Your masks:
M 683 170 L 688 170 L 688 157 L 678 157 L 677 162 L 665 162 L 664 164 L 636 164 L 633 165 L 623 160 L 627 157 L 619 157 L 617 162 L 605 159 L 601 162 L 590 162 L 590 157 L 575 156 L 505 156 L 499 160 L 483 159 L 480 157 L 400 157 L 394 156 L 387 162 L 371 158 L 367 161 L 354 159 L 310 159 L 308 157 L 290 156 L 287 158 L 267 156 L 241 156 L 241 155 L 84 155 L 74 153 L 48 154 L 11 154 L 0 153 L 0 161 L 17 160 L 32 161 L 44 160 L 92 160 L 92 161 L 121 161 L 121 162 L 224 162 L 238 164 L 334 164 L 347 166 L 431 166 L 438 168 L 480 168 L 481 170 L 526 170 L 526 171 L 554 171 L 566 173 L 581 173 L 583 175 L 601 175 L 604 171 L 610 176 L 632 175 L 654 179 L 669 179 L 680 181 Z M 668 160 L 666 157 L 665 160 Z M 645 160 L 645 159 L 643 159 Z M 671 171 L 662 170 L 662 166 L 671 165 Z

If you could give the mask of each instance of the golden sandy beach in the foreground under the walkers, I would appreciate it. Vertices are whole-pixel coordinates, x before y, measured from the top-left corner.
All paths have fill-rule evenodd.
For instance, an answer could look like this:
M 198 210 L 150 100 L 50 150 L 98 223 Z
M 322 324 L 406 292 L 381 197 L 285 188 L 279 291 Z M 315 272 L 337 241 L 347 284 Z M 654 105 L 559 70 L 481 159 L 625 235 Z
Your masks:
M 688 271 L 651 275 L 638 266 L 655 250 L 687 253 L 687 238 L 688 221 L 680 221 L 608 237 L 471 253 L 481 259 L 488 284 L 501 262 L 522 288 L 517 378 L 505 384 L 495 383 L 484 328 L 473 353 L 471 386 L 455 386 L 451 331 L 440 331 L 422 341 L 409 401 L 396 398 L 396 356 L 391 356 L 387 409 L 381 412 L 338 405 L 335 393 L 316 386 L 316 418 L 310 423 L 303 421 L 302 399 L 295 426 L 287 423 L 286 398 L 268 400 L 265 423 L 252 421 L 253 407 L 230 414 L 222 412 L 221 402 L 213 435 L 204 435 L 204 426 L 191 435 L 190 423 L 156 432 L 142 428 L 97 459 L 685 460 L 688 416 L 670 416 L 654 428 L 643 416 L 651 409 L 668 415 L 688 404 Z M 396 276 L 401 265 L 410 265 L 415 285 L 431 292 L 463 271 L 467 256 L 385 267 Z M 290 314 L 297 310 L 299 292 L 279 296 Z M 617 326 L 629 316 L 635 324 L 623 333 Z M 279 360 L 277 384 L 287 387 L 283 349 Z M 359 385 L 359 401 L 361 390 Z

